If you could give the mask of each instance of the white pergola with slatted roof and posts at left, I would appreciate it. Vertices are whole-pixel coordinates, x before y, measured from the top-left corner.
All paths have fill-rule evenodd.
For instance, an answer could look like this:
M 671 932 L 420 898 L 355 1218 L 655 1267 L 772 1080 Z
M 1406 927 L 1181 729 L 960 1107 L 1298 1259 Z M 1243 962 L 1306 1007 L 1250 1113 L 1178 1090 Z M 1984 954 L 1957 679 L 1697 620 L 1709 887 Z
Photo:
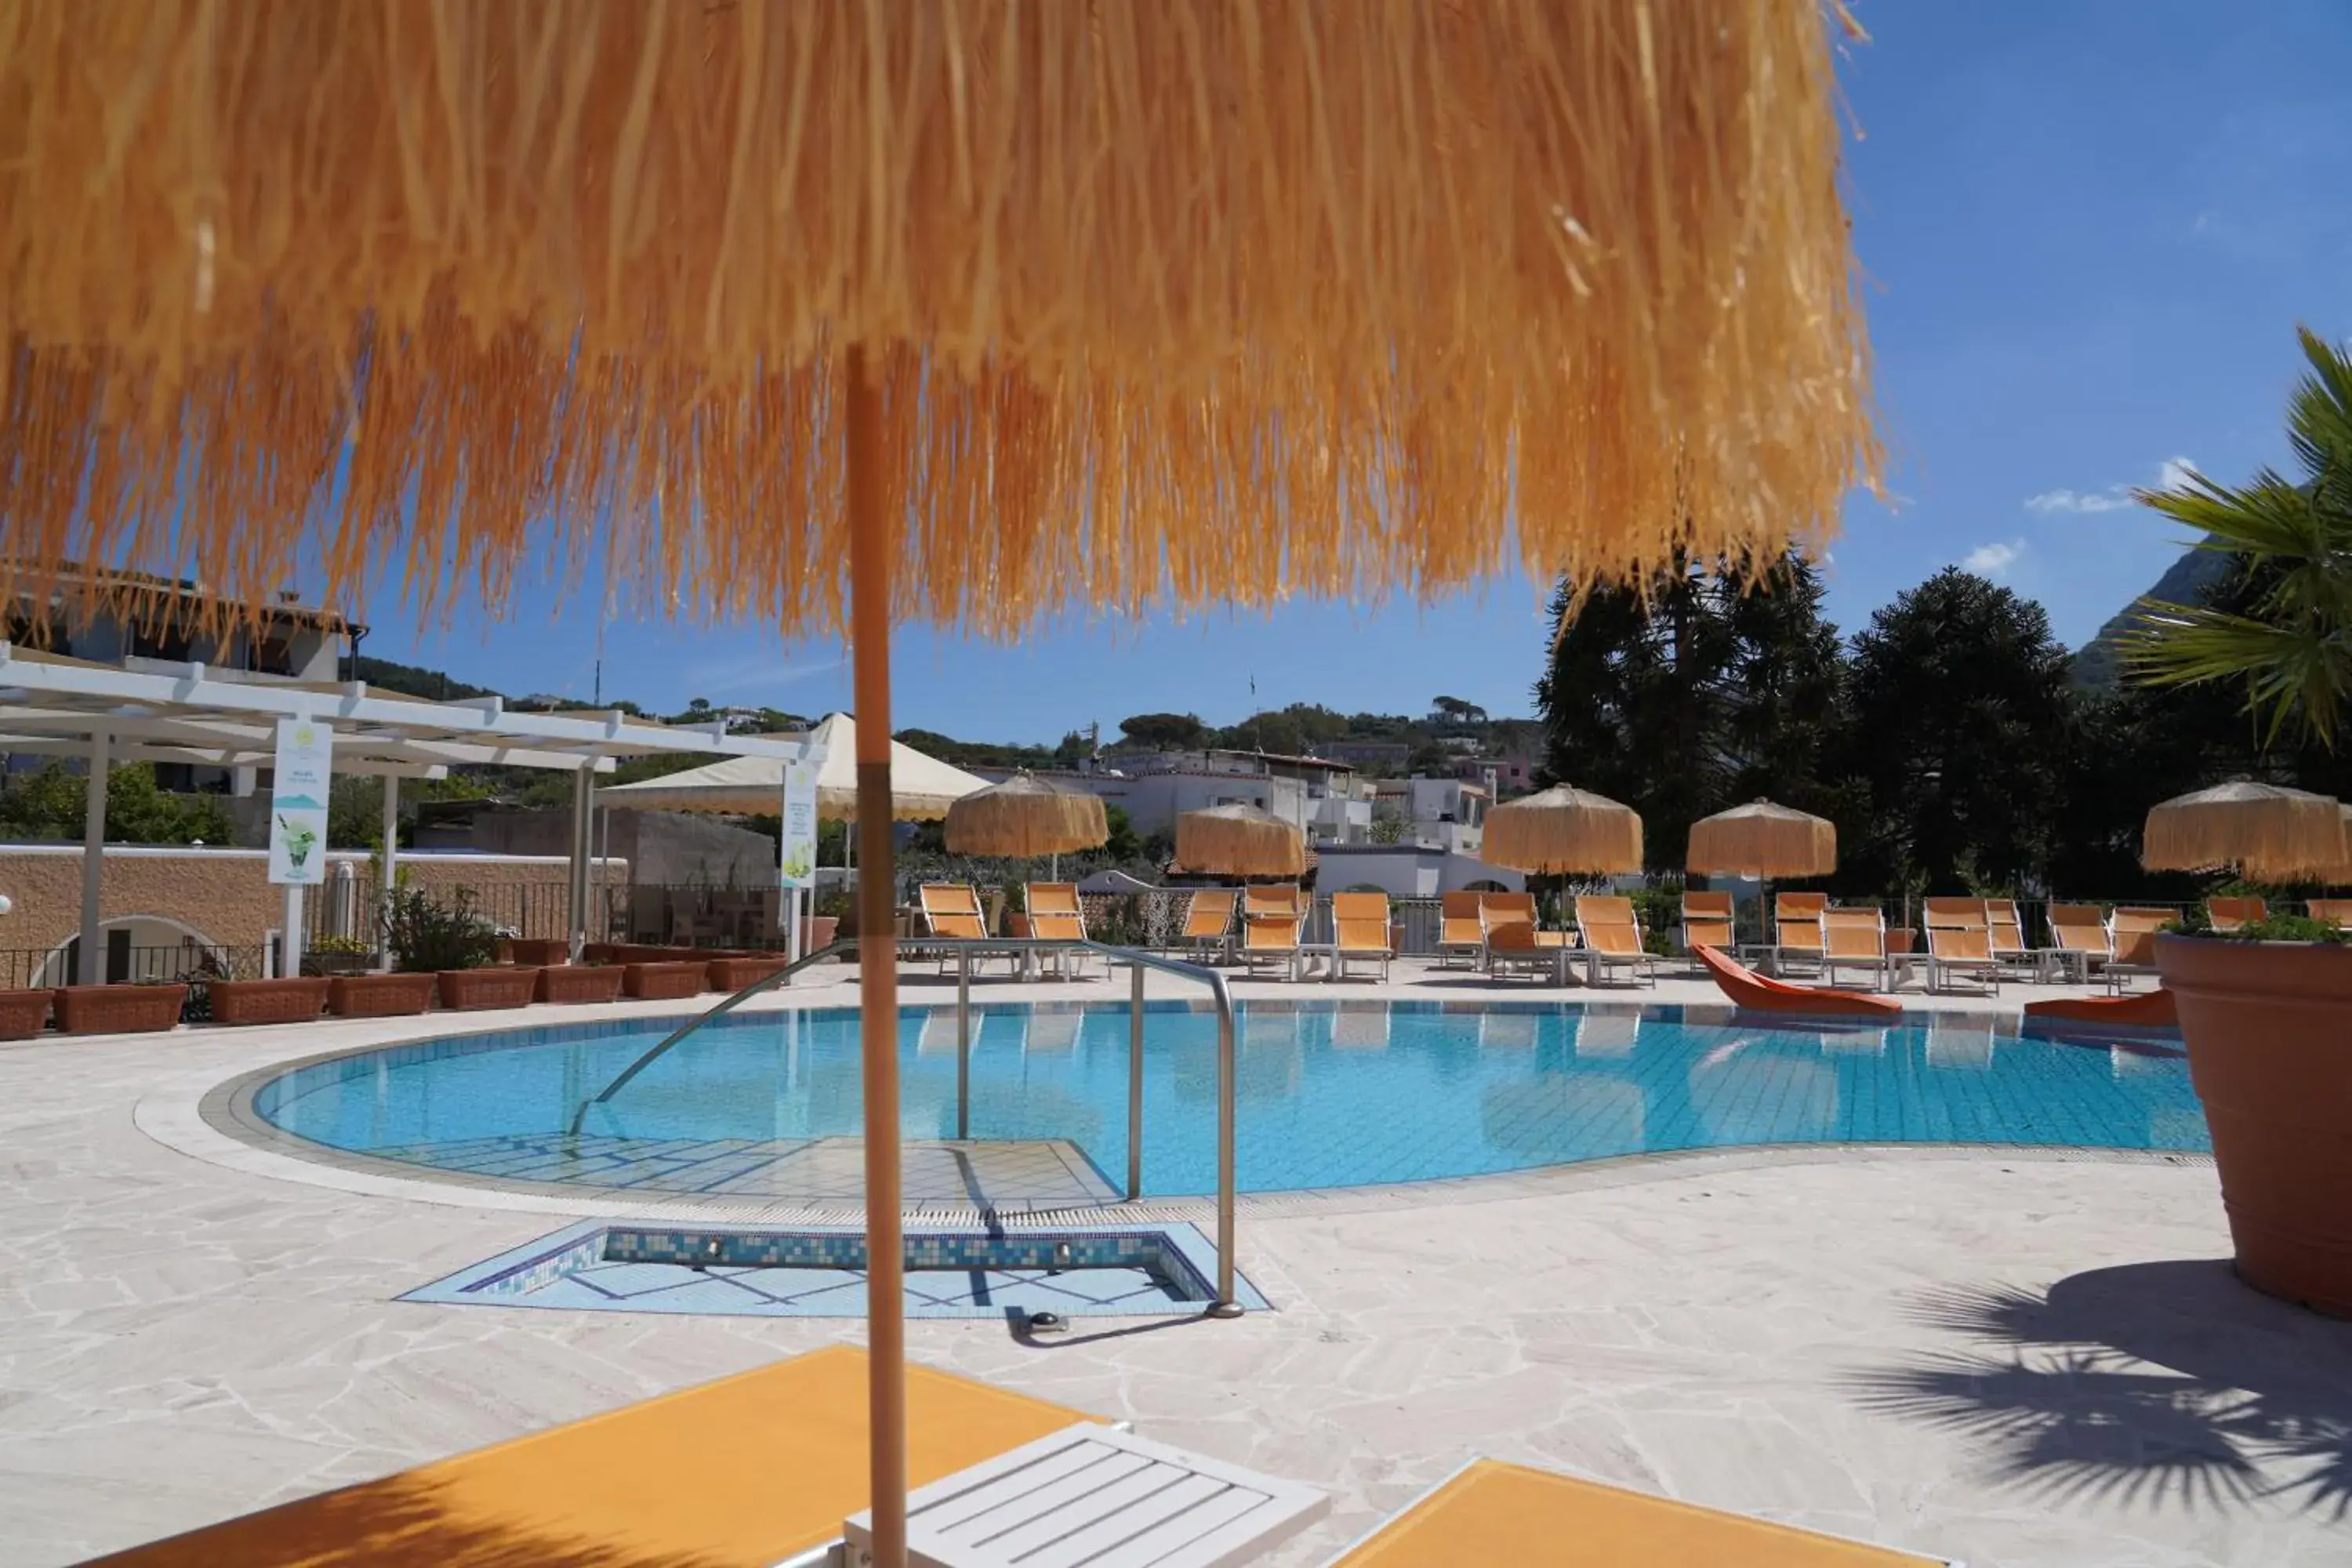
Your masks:
M 99 875 L 106 851 L 106 769 L 115 762 L 191 762 L 268 769 L 278 722 L 334 729 L 334 771 L 383 778 L 383 886 L 390 898 L 402 778 L 442 778 L 456 764 L 572 773 L 572 952 L 588 936 L 595 776 L 616 757 L 654 752 L 823 759 L 809 736 L 731 736 L 713 724 L 656 724 L 626 712 L 517 712 L 499 698 L 435 703 L 362 682 L 285 682 L 200 663 L 132 658 L 101 665 L 0 642 L 0 752 L 85 757 L 82 957 L 78 980 L 101 978 Z M 781 804 L 781 802 L 779 802 Z M 299 964 L 301 889 L 287 889 L 287 969 Z M 800 922 L 790 922 L 797 943 Z

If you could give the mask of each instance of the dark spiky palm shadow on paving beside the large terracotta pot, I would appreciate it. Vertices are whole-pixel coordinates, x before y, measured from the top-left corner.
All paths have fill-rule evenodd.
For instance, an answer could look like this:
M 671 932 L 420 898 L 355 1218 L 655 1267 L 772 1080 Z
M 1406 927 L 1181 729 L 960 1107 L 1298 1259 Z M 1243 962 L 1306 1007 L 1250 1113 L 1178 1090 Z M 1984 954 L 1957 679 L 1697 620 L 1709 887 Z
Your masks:
M 1957 1286 L 1907 1316 L 1964 1347 L 1844 1378 L 1870 1410 L 1969 1439 L 2042 1502 L 2352 1516 L 2352 1324 L 2225 1260 L 2089 1269 L 2046 1293 Z

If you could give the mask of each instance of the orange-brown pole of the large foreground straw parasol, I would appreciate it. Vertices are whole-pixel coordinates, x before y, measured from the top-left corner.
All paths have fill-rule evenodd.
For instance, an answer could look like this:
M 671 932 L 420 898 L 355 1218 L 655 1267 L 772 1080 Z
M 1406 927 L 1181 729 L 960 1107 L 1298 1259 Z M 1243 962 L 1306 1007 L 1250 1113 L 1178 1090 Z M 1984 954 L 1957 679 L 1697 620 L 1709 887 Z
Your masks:
M 849 637 L 858 701 L 858 1039 L 866 1051 L 866 1342 L 873 1561 L 906 1568 L 906 1241 L 898 1222 L 898 912 L 891 900 L 889 557 L 882 393 L 851 348 Z

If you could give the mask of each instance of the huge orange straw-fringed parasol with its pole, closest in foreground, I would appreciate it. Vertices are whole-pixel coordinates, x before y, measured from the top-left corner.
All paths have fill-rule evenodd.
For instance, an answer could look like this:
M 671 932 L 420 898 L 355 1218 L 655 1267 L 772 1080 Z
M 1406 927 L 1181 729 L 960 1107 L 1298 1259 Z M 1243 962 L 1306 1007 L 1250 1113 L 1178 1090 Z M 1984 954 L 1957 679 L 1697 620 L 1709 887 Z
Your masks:
M 887 870 L 894 621 L 1011 637 L 1825 538 L 1877 465 L 1830 26 L 19 0 L 0 595 L 169 592 L 68 574 L 108 562 L 259 623 L 299 564 L 496 614 L 553 559 L 661 614 L 847 632 Z M 889 882 L 858 983 L 873 1552 L 901 1568 Z

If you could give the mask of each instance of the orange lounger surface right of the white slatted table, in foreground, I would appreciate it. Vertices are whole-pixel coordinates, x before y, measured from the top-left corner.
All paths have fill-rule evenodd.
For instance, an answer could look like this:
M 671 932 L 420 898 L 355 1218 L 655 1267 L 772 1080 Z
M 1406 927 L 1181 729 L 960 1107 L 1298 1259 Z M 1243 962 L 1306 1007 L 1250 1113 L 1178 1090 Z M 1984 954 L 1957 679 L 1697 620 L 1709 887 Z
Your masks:
M 1929 1568 L 1938 1556 L 1479 1460 L 1331 1568 Z

